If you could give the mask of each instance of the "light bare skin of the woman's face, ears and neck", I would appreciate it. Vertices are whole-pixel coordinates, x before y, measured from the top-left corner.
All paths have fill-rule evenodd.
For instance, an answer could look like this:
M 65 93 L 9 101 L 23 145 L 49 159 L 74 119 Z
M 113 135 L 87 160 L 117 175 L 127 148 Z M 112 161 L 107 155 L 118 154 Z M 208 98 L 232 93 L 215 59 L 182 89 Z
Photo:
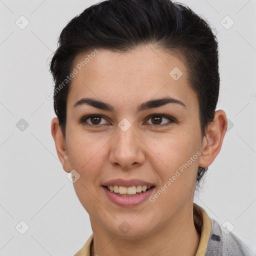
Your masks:
M 197 97 L 179 58 L 150 44 L 125 53 L 98 50 L 71 80 L 65 138 L 58 119 L 51 122 L 63 169 L 80 174 L 73 185 L 90 217 L 90 255 L 195 255 L 200 238 L 192 212 L 196 173 L 220 151 L 227 127 L 225 112 L 215 112 L 202 136 Z M 77 55 L 73 67 L 87 54 Z M 183 73 L 178 80 L 169 75 L 174 67 Z M 169 103 L 137 112 L 141 103 L 164 97 L 185 106 Z M 81 98 L 106 102 L 113 112 L 85 103 L 74 106 Z M 102 116 L 79 122 L 89 114 Z M 151 114 L 156 116 L 148 118 Z M 118 126 L 123 118 L 131 124 L 126 131 Z M 157 191 L 197 151 L 200 156 L 154 202 L 122 207 L 102 189 L 101 184 L 110 179 L 138 178 L 153 183 Z M 118 228 L 123 221 L 130 226 L 125 234 Z

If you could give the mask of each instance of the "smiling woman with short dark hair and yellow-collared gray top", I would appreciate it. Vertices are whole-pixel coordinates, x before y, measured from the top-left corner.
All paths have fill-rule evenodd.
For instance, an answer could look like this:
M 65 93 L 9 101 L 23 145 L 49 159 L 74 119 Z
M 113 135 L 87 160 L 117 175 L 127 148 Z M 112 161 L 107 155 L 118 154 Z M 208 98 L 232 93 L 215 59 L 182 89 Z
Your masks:
M 93 234 L 80 255 L 253 255 L 193 203 L 227 128 L 217 41 L 188 7 L 108 0 L 62 30 L 51 133 Z

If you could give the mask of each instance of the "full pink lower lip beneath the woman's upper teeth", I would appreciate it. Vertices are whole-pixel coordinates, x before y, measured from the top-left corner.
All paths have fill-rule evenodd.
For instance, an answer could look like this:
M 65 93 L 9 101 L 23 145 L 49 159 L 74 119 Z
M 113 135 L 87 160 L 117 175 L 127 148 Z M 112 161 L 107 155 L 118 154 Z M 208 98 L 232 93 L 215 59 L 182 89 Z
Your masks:
M 115 194 L 114 192 L 109 191 L 107 188 L 102 186 L 104 189 L 106 196 L 114 203 L 118 204 L 119 206 L 129 207 L 129 206 L 136 206 L 142 202 L 144 202 L 153 192 L 154 187 L 151 187 L 145 192 L 138 193 L 133 196 L 122 196 Z

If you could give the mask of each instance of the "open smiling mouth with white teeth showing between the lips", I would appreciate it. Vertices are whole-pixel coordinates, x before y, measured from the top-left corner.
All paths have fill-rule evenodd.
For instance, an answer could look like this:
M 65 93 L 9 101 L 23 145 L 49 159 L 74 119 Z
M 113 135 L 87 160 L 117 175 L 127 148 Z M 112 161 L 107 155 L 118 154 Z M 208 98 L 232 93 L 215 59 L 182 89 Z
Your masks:
M 103 187 L 105 187 L 107 190 L 117 195 L 134 196 L 134 195 L 144 193 L 147 190 L 152 189 L 154 186 L 136 185 L 136 186 L 125 187 L 125 186 L 112 185 L 112 186 L 103 186 Z

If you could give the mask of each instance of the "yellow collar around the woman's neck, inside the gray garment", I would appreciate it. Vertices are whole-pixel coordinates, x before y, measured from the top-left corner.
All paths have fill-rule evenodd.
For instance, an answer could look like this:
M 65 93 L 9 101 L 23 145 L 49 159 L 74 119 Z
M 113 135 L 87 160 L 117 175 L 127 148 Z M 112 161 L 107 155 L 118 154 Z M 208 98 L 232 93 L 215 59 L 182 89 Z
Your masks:
M 205 210 L 195 203 L 193 203 L 193 219 L 196 230 L 200 233 L 200 241 L 195 256 L 204 256 L 210 235 L 211 221 Z M 90 256 L 92 240 L 93 234 L 90 235 L 82 248 L 74 256 Z

